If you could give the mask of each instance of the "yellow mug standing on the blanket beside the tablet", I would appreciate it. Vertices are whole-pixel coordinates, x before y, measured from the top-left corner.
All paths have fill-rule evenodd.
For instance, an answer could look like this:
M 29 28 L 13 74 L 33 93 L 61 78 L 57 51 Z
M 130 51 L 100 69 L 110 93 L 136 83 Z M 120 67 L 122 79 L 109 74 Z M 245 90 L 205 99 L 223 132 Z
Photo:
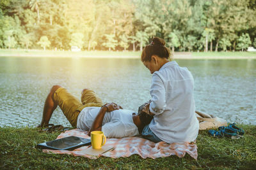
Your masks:
M 106 136 L 102 131 L 92 131 L 91 132 L 91 141 L 93 149 L 100 149 L 101 146 L 106 143 Z

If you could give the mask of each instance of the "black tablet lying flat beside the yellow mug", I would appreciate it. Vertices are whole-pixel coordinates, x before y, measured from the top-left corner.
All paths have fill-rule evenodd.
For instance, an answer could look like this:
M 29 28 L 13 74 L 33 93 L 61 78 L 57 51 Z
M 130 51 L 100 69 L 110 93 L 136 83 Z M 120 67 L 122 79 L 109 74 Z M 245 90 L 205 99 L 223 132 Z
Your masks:
M 41 149 L 74 150 L 76 148 L 80 148 L 81 146 L 87 145 L 91 145 L 91 139 L 80 138 L 77 136 L 68 136 L 66 138 L 39 143 L 36 146 Z

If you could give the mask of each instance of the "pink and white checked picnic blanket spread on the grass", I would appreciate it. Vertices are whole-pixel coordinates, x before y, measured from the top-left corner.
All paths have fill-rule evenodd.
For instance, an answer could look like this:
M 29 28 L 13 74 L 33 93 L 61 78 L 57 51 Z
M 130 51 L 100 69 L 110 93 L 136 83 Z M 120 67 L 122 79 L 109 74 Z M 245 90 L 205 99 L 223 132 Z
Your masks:
M 57 139 L 68 137 L 68 136 L 77 136 L 81 138 L 89 138 L 86 131 L 82 131 L 80 129 L 73 129 L 70 131 L 65 131 L 61 133 Z M 106 152 L 100 154 L 100 156 L 111 157 L 111 158 L 119 158 L 119 157 L 129 157 L 133 154 L 140 155 L 143 159 L 152 158 L 156 159 L 159 157 L 169 157 L 170 155 L 177 155 L 178 157 L 184 157 L 186 153 L 188 153 L 194 159 L 197 159 L 197 146 L 195 143 L 165 143 L 159 142 L 154 143 L 152 141 L 148 141 L 147 139 L 139 138 L 139 137 L 129 137 L 129 138 L 108 138 L 105 146 L 113 147 L 115 150 L 111 152 Z M 88 148 L 88 146 L 83 146 L 81 148 L 77 148 L 73 151 L 68 150 L 46 150 L 44 149 L 44 153 L 57 153 L 57 154 L 70 154 L 74 156 L 88 157 L 90 159 L 97 159 L 93 155 L 87 155 L 85 153 L 81 153 L 84 149 Z

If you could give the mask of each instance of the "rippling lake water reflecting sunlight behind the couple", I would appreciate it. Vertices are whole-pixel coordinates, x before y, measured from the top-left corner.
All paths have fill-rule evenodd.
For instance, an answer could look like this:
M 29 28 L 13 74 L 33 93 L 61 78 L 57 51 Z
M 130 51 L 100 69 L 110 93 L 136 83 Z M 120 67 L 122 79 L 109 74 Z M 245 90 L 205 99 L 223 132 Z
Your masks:
M 194 76 L 196 110 L 256 124 L 256 60 L 176 61 Z M 38 125 L 52 85 L 78 98 L 93 89 L 104 103 L 137 111 L 150 99 L 150 82 L 139 59 L 0 57 L 0 126 Z M 70 126 L 60 108 L 50 123 Z

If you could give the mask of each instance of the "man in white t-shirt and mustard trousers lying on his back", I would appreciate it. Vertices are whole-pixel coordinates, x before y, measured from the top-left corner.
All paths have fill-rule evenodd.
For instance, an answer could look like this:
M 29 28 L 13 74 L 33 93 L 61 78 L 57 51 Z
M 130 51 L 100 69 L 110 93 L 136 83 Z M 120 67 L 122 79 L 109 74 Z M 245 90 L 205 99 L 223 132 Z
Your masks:
M 72 127 L 89 131 L 89 135 L 92 131 L 102 131 L 107 138 L 138 136 L 153 118 L 142 111 L 143 106 L 140 106 L 137 114 L 115 103 L 103 104 L 95 92 L 89 89 L 83 89 L 79 101 L 67 89 L 54 85 L 45 100 L 42 122 L 38 127 L 49 124 L 57 106 L 60 106 Z

